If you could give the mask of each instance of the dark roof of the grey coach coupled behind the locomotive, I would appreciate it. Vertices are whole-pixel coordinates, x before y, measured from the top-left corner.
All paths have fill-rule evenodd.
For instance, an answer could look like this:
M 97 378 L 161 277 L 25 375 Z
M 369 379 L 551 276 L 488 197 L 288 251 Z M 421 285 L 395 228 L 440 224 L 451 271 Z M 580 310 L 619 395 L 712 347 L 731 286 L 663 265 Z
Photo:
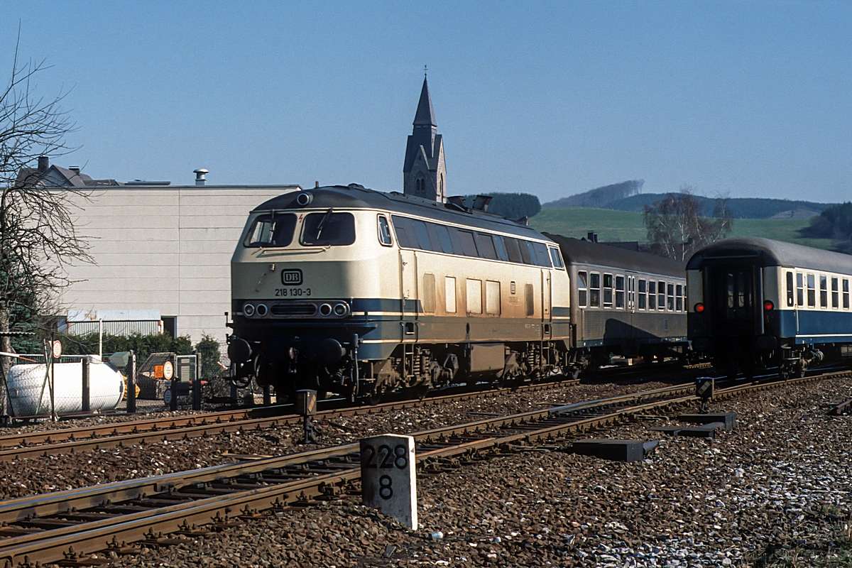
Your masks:
M 592 264 L 603 267 L 618 267 L 637 273 L 662 274 L 683 278 L 686 265 L 663 256 L 649 255 L 645 252 L 621 249 L 608 244 L 592 243 L 573 237 L 562 237 L 545 232 L 544 235 L 556 241 L 567 265 Z

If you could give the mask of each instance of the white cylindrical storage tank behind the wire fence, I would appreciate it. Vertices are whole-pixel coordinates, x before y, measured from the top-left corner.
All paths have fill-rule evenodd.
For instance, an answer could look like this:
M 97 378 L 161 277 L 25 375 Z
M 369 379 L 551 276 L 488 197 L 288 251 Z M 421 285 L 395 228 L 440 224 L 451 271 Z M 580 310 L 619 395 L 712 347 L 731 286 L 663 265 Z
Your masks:
M 83 364 L 53 365 L 56 414 L 83 410 Z M 44 364 L 16 364 L 9 370 L 9 399 L 14 416 L 50 414 L 50 383 Z M 39 395 L 41 404 L 39 404 Z M 105 363 L 89 364 L 89 408 L 112 410 L 124 397 L 121 373 Z

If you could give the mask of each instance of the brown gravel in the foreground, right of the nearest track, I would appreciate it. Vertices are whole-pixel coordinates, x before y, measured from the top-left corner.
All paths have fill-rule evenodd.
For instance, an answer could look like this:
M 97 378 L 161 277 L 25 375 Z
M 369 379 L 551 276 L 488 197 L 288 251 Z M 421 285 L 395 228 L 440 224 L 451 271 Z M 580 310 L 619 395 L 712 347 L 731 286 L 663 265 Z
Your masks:
M 849 398 L 835 380 L 717 403 L 736 430 L 662 439 L 642 462 L 528 451 L 421 474 L 418 531 L 350 496 L 115 565 L 850 565 L 852 417 L 826 416 Z M 657 439 L 653 425 L 606 435 Z

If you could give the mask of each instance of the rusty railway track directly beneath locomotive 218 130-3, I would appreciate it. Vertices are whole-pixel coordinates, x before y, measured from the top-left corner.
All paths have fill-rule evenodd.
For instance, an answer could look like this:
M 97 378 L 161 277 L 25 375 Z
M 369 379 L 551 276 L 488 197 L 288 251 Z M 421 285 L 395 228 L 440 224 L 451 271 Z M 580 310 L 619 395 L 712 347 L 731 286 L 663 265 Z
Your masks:
M 693 366 L 694 367 L 694 366 Z M 700 366 L 698 368 L 701 368 Z M 665 378 L 689 372 L 694 368 L 675 367 L 653 369 L 654 378 Z M 636 368 L 625 375 L 624 370 L 617 376 L 648 373 L 648 369 Z M 536 392 L 578 383 L 578 379 L 561 378 L 553 381 L 523 384 L 515 387 L 503 387 L 490 390 L 461 389 L 461 392 L 435 394 L 424 399 L 400 399 L 372 406 L 341 406 L 335 401 L 325 402 L 328 407 L 320 410 L 314 417 L 358 416 L 366 413 L 394 411 L 405 408 L 422 407 L 428 404 L 445 404 L 469 399 L 491 399 L 504 396 L 509 392 Z M 302 422 L 302 416 L 291 414 L 293 406 L 282 404 L 246 410 L 226 410 L 189 416 L 166 416 L 130 422 L 113 422 L 87 427 L 59 428 L 43 432 L 17 433 L 0 436 L 0 462 L 20 460 L 37 456 L 59 456 L 69 452 L 102 450 L 114 447 L 141 445 L 164 440 L 191 439 L 204 436 L 227 434 L 238 431 L 264 430 L 273 427 L 294 426 Z

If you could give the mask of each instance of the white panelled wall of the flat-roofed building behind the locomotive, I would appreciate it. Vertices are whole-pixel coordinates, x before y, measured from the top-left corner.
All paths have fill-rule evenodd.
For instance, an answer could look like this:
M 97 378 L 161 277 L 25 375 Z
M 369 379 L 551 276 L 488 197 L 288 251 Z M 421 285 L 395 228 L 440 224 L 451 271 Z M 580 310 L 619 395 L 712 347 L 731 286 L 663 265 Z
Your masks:
M 299 186 L 118 186 L 74 198 L 95 265 L 69 269 L 68 310 L 158 309 L 177 334 L 225 340 L 231 255 L 251 209 Z

